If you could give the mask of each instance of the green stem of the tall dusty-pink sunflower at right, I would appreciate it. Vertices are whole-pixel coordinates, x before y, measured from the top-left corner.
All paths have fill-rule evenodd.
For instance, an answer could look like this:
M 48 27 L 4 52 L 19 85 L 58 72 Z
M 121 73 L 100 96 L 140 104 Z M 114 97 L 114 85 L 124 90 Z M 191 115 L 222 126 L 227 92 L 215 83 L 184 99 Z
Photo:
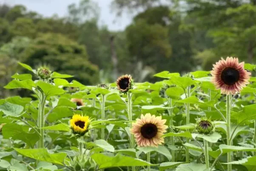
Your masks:
M 231 142 L 231 139 L 230 139 L 230 127 L 231 127 L 231 123 L 230 123 L 230 110 L 231 110 L 231 95 L 228 94 L 227 95 L 227 145 L 228 146 L 231 146 L 232 145 L 232 142 Z M 228 152 L 228 160 L 227 162 L 230 163 L 232 161 L 232 153 L 231 152 Z M 232 165 L 231 164 L 228 164 L 228 171 L 232 171 Z

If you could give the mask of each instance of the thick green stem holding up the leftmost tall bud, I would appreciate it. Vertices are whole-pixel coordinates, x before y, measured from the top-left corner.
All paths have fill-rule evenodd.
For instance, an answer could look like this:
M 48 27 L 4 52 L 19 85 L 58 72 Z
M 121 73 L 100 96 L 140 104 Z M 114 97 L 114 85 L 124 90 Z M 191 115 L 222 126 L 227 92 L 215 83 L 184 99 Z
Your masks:
M 37 120 L 37 125 L 40 129 L 40 139 L 38 142 L 38 148 L 42 149 L 44 148 L 44 130 L 42 129 L 42 127 L 44 127 L 44 108 L 45 108 L 45 102 L 46 102 L 46 96 L 43 92 L 40 93 L 40 98 L 39 98 L 40 102 L 38 104 L 38 120 Z

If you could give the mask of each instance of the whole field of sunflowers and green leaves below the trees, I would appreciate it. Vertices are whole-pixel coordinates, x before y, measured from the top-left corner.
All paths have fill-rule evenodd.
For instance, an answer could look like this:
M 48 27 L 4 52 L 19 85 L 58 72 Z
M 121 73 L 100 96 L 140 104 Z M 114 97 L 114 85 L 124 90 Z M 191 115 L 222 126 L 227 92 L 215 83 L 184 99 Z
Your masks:
M 82 85 L 47 67 L 0 99 L 0 171 L 256 171 L 256 65 Z

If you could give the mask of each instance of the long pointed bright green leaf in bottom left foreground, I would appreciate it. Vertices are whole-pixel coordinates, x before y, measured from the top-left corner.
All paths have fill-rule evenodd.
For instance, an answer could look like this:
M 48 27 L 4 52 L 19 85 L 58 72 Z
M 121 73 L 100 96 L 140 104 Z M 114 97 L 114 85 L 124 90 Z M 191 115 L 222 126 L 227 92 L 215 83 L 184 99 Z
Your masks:
M 49 154 L 47 149 L 14 149 L 26 157 L 59 165 L 64 165 L 64 159 L 67 156 L 65 153 Z

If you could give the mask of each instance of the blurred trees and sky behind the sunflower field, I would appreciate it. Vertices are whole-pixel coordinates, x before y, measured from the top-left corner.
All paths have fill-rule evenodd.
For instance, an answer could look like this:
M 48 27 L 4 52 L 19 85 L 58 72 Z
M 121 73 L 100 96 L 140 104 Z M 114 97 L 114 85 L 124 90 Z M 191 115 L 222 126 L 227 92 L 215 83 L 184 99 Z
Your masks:
M 255 55 L 256 0 L 0 0 L 0 98 L 17 61 L 95 85 Z

